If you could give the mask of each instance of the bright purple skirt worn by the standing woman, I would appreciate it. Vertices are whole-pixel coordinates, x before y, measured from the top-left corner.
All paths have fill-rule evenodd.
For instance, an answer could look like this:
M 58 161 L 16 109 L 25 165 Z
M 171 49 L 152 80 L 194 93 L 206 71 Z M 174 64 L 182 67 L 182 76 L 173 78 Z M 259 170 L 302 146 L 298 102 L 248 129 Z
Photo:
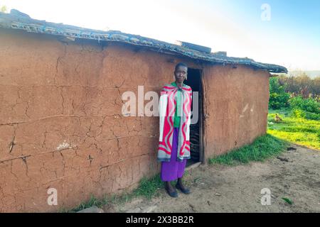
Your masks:
M 171 182 L 181 178 L 186 167 L 186 159 L 183 162 L 176 160 L 178 152 L 178 135 L 179 128 L 174 128 L 174 135 L 172 139 L 171 160 L 170 162 L 161 162 L 161 180 L 164 182 Z

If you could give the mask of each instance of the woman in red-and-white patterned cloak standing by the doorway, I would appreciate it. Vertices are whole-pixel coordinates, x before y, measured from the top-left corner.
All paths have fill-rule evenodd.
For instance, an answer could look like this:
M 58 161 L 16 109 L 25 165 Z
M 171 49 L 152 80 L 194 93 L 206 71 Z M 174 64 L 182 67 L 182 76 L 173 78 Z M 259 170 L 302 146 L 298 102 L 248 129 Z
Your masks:
M 175 82 L 161 90 L 159 104 L 160 133 L 157 158 L 161 162 L 161 180 L 172 197 L 178 193 L 171 182 L 178 179 L 176 188 L 184 194 L 190 190 L 183 185 L 182 177 L 190 154 L 190 123 L 192 90 L 186 84 L 188 67 L 178 63 L 174 70 Z

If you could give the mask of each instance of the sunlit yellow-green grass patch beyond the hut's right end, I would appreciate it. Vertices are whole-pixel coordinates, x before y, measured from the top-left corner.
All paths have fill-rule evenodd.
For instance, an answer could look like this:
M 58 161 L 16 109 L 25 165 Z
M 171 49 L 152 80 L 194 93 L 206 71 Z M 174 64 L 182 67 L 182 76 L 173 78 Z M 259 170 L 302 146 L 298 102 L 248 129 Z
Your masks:
M 288 114 L 281 114 L 284 111 Z M 278 114 L 282 121 L 275 122 L 275 114 Z M 297 143 L 308 148 L 320 150 L 320 121 L 296 118 L 290 110 L 270 110 L 267 133 L 290 143 Z

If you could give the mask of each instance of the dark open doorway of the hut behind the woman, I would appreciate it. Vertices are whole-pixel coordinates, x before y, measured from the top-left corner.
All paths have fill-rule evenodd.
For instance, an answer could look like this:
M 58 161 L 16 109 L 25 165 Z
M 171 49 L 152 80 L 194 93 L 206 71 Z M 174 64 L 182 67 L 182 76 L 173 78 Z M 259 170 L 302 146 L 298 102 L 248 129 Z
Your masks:
M 203 162 L 203 102 L 202 102 L 202 83 L 201 83 L 202 71 L 197 69 L 188 68 L 188 79 L 184 82 L 192 88 L 193 102 L 191 104 L 191 126 L 190 126 L 190 148 L 191 159 L 188 160 L 187 166 L 193 165 L 196 162 Z M 197 92 L 197 93 L 196 93 Z M 198 96 L 197 96 L 198 95 Z M 198 99 L 198 105 L 195 103 Z M 195 106 L 193 106 L 195 105 Z M 197 110 L 196 110 L 197 109 Z M 197 116 L 195 116 L 197 114 Z M 198 118 L 198 121 L 194 121 Z

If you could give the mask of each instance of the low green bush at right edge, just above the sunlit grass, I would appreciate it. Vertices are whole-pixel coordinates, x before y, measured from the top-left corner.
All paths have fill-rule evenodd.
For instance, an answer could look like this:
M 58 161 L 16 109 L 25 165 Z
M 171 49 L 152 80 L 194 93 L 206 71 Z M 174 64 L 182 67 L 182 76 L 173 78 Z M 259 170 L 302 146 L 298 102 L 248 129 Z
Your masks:
M 314 99 L 303 99 L 302 96 L 297 96 L 289 99 L 290 107 L 293 110 L 301 109 L 314 114 L 320 114 L 320 103 Z

